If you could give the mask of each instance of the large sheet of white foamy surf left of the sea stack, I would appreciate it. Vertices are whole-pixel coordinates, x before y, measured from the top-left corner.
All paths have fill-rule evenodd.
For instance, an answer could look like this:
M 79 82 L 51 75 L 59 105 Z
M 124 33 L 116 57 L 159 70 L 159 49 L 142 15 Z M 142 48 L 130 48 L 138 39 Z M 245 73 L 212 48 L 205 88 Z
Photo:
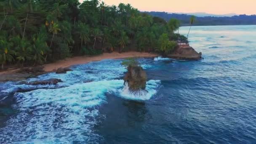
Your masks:
M 20 112 L 0 129 L 0 143 L 70 144 L 100 139 L 91 130 L 99 112 L 88 108 L 106 102 L 105 93 L 116 93 L 122 87 L 123 80 L 103 80 L 16 93 L 14 108 Z

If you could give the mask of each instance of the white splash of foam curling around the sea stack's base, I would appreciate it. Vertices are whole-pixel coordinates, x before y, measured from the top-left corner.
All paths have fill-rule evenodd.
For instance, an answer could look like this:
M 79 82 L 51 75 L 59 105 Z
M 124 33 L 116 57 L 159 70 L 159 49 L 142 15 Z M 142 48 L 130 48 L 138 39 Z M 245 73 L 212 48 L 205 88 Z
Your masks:
M 160 80 L 149 80 L 146 85 L 146 90 L 131 92 L 129 91 L 128 84 L 126 83 L 123 89 L 119 90 L 120 96 L 125 99 L 131 99 L 131 100 L 139 100 L 139 101 L 149 100 L 157 92 L 156 88 L 159 86 L 159 84 L 160 84 Z

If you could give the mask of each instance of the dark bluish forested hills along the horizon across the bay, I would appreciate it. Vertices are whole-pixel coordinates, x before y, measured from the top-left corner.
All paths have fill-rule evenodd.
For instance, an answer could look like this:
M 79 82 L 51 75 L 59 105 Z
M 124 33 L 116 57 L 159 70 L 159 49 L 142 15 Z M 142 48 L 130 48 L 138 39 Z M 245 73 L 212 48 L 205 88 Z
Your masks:
M 179 19 L 181 21 L 182 26 L 189 25 L 189 19 L 191 15 L 187 14 L 177 14 L 177 13 L 166 13 L 166 12 L 145 12 L 152 16 L 158 16 L 160 18 L 168 21 L 171 18 Z M 195 24 L 197 26 L 206 26 L 206 25 L 256 25 L 256 15 L 239 15 L 232 17 L 197 17 Z

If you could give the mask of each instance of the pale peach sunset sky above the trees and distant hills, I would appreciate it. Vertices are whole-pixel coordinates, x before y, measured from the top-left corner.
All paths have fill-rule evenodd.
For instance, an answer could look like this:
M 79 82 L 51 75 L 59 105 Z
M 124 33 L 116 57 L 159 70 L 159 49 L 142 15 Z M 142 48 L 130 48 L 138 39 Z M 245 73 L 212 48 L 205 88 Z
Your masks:
M 256 14 L 256 0 L 104 0 L 104 3 L 107 5 L 130 3 L 139 11 Z

